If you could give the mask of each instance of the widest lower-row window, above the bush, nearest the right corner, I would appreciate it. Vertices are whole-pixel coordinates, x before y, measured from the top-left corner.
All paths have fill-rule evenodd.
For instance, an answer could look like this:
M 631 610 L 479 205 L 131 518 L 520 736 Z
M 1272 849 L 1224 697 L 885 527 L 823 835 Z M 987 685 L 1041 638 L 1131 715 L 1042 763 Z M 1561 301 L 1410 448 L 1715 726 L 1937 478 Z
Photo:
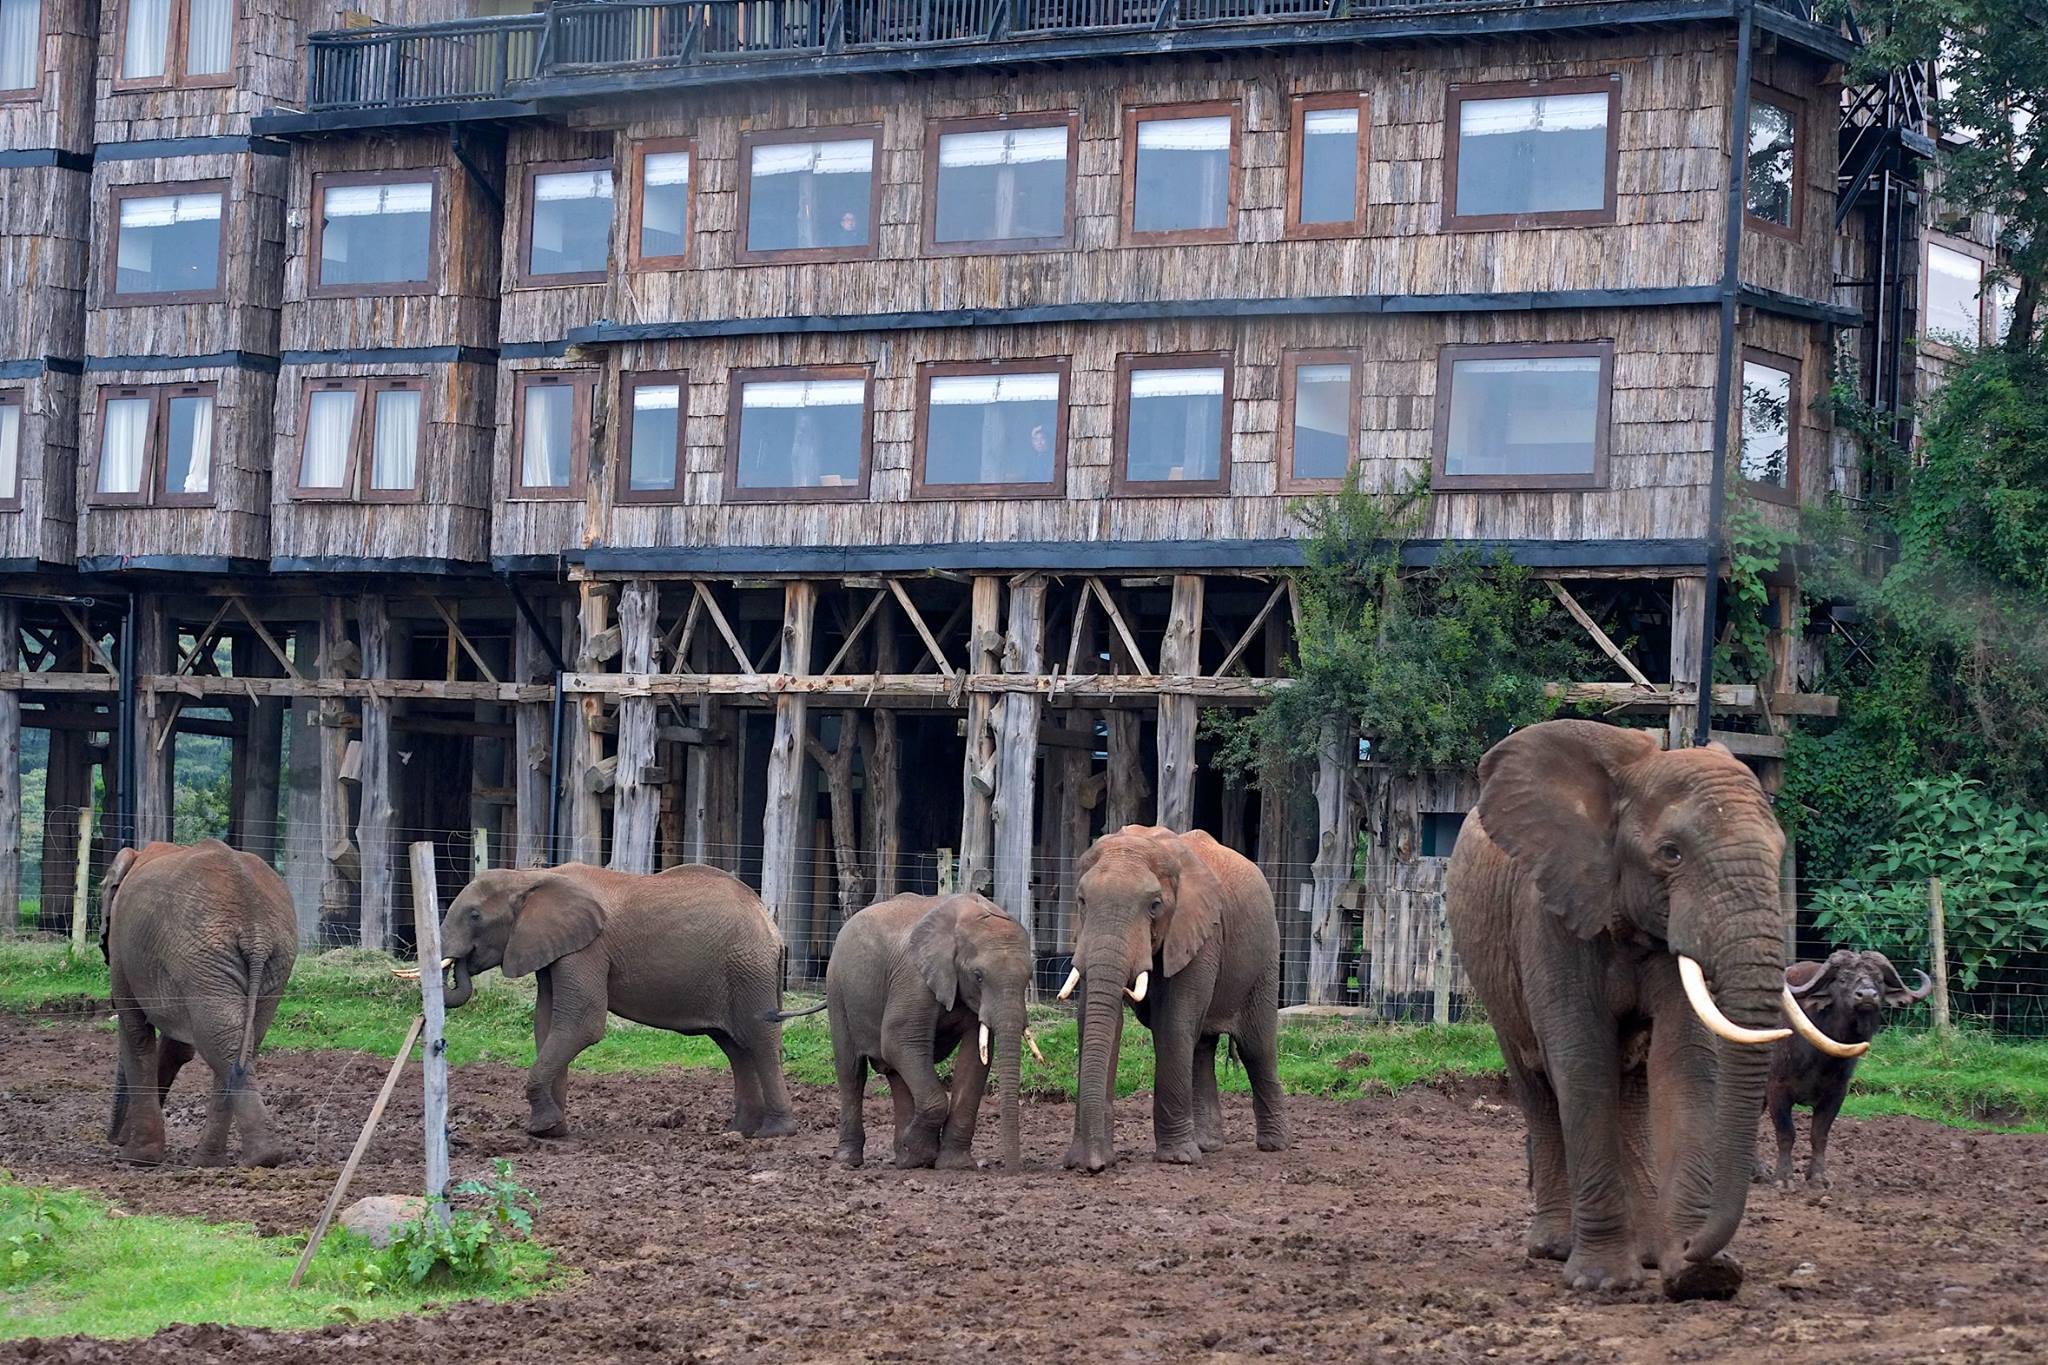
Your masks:
M 1612 372 L 1612 342 L 1444 346 L 1436 368 L 1436 485 L 1606 485 Z

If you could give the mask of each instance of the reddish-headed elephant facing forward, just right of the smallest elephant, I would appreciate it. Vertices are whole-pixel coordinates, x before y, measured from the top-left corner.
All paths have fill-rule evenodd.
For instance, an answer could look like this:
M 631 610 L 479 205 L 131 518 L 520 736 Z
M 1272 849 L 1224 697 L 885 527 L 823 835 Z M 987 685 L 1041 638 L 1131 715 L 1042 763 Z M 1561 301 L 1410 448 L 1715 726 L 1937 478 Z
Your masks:
M 1081 1062 L 1067 1166 L 1114 1158 L 1110 1107 L 1124 999 L 1153 1033 L 1153 1160 L 1200 1162 L 1223 1146 L 1217 1040 L 1237 1042 L 1262 1152 L 1288 1144 L 1280 1097 L 1280 929 L 1266 876 L 1202 831 L 1124 825 L 1075 868 L 1073 972 Z

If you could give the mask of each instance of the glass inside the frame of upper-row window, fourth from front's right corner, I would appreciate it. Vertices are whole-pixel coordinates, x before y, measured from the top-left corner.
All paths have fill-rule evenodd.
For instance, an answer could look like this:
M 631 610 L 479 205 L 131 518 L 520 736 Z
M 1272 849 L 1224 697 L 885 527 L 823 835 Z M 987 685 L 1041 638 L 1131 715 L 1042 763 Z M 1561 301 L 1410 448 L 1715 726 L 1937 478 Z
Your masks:
M 991 129 L 938 139 L 938 241 L 1067 231 L 1067 129 Z

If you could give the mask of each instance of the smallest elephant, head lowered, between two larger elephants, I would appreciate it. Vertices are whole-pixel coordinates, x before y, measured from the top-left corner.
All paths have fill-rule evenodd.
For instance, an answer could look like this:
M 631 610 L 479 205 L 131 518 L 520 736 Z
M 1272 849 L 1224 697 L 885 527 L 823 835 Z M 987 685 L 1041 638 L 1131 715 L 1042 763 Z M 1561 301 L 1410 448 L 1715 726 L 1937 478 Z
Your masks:
M 1018 1072 L 1030 968 L 1024 929 L 981 896 L 895 896 L 846 921 L 825 966 L 842 1162 L 864 1158 L 860 1095 L 872 1062 L 895 1097 L 895 1164 L 971 1171 L 993 1056 L 1004 1171 L 1022 1166 Z M 948 1095 L 934 1066 L 954 1048 Z

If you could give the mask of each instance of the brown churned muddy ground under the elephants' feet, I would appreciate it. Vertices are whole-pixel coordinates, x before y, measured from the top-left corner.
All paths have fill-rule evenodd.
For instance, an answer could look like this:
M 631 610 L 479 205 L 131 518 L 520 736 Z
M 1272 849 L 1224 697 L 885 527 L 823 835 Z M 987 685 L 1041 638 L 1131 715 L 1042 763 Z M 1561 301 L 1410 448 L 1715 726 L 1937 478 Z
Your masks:
M 297 1152 L 279 1171 L 123 1169 L 100 1140 L 113 1036 L 0 1017 L 0 1166 L 133 1212 L 303 1234 L 385 1064 L 268 1054 L 262 1089 Z M 199 1138 L 203 1070 L 172 1095 L 172 1148 Z M 723 1072 L 571 1081 L 578 1136 L 518 1132 L 522 1076 L 455 1076 L 457 1175 L 510 1156 L 539 1236 L 582 1279 L 516 1306 L 326 1332 L 172 1328 L 147 1342 L 0 1342 L 0 1361 L 1761 1361 L 2040 1359 L 2048 1351 L 2048 1138 L 1843 1119 L 1823 1197 L 1759 1189 L 1733 1304 L 1651 1289 L 1577 1297 L 1522 1259 L 1522 1126 L 1493 1089 L 1294 1101 L 1294 1148 L 1233 1144 L 1155 1166 L 1149 1101 L 1118 1107 L 1126 1158 L 1059 1171 L 1071 1109 L 1028 1105 L 1026 1173 L 887 1166 L 887 1095 L 864 1171 L 829 1160 L 829 1091 L 803 1132 L 719 1132 Z M 680 1107 L 678 1107 L 680 1105 Z M 991 1115 L 993 1117 L 993 1115 Z M 983 1126 L 979 1146 L 993 1132 Z M 403 1085 L 354 1193 L 418 1181 Z

